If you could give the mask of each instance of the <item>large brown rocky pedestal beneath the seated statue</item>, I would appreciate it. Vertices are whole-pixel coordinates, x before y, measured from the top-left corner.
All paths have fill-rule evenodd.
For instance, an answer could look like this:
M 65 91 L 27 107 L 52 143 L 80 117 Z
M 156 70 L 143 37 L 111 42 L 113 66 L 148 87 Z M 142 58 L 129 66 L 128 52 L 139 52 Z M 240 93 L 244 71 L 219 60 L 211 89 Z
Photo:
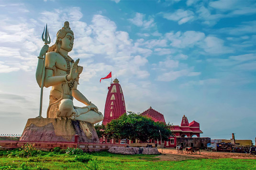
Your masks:
M 20 140 L 23 141 L 64 141 L 98 143 L 99 138 L 93 124 L 71 119 L 33 118 L 28 119 Z

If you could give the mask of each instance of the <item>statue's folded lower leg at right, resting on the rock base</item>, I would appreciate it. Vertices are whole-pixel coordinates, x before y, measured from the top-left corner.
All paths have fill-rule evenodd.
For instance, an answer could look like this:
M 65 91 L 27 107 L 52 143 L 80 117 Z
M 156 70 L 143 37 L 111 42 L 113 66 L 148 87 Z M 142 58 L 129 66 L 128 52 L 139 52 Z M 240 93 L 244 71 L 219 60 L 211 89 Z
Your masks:
M 102 113 L 100 112 L 95 112 L 94 110 L 89 110 L 88 111 L 88 108 L 78 108 L 76 107 L 76 116 L 73 117 L 71 119 L 74 119 L 74 120 L 82 120 L 82 121 L 87 121 L 87 122 L 90 122 L 90 123 L 98 123 L 100 122 L 101 120 L 103 120 L 103 115 Z

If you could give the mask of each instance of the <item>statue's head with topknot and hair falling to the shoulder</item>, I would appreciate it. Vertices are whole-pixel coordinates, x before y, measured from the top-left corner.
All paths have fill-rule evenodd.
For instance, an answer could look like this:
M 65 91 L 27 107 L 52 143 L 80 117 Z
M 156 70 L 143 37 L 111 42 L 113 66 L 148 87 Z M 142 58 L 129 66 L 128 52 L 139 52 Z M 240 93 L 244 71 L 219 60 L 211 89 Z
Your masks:
M 73 49 L 74 33 L 70 29 L 68 21 L 64 23 L 62 29 L 58 30 L 56 37 L 55 44 L 49 48 L 48 52 L 59 52 L 60 48 L 67 50 L 68 52 Z

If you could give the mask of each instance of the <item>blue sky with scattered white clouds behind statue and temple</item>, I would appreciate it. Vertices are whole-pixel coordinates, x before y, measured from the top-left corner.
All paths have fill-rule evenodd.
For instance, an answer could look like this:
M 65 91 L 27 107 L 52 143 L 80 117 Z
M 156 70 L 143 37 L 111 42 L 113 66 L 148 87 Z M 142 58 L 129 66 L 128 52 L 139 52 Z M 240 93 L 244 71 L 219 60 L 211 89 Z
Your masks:
M 256 138 L 256 1 L 0 0 L 0 134 L 39 115 L 37 56 L 65 21 L 78 90 L 103 113 L 112 71 L 127 111 L 151 106 L 166 122 L 200 123 L 201 137 Z M 43 112 L 50 88 L 44 88 Z M 74 101 L 75 106 L 84 106 Z

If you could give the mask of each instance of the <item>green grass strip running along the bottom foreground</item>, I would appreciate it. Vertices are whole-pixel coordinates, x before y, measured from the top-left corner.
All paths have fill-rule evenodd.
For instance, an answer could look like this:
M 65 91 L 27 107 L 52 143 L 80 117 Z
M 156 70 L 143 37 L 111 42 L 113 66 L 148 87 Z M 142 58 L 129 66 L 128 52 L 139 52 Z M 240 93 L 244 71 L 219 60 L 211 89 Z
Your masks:
M 9 152 L 10 153 L 10 152 Z M 46 153 L 37 157 L 19 158 L 0 156 L 0 170 L 85 170 L 93 169 L 95 163 L 103 170 L 253 170 L 256 160 L 249 159 L 200 159 L 161 161 L 158 155 L 120 155 L 106 151 L 89 153 L 94 160 L 88 163 L 76 161 L 75 155 Z M 95 168 L 95 167 L 94 167 Z

